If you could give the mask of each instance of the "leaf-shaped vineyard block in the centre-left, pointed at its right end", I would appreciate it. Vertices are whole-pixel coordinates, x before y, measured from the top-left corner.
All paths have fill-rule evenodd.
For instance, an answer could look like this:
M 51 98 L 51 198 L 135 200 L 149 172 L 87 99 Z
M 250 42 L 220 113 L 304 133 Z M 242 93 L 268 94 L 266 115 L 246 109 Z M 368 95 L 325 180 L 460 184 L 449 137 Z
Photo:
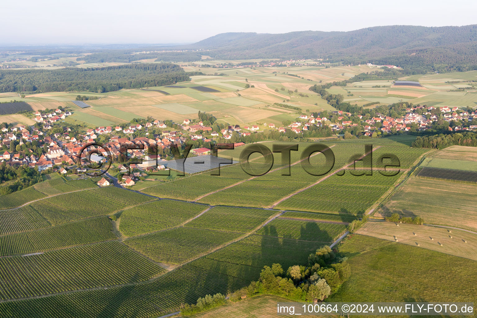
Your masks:
M 158 200 L 121 212 L 119 230 L 125 236 L 136 236 L 178 226 L 207 208 L 173 200 Z

